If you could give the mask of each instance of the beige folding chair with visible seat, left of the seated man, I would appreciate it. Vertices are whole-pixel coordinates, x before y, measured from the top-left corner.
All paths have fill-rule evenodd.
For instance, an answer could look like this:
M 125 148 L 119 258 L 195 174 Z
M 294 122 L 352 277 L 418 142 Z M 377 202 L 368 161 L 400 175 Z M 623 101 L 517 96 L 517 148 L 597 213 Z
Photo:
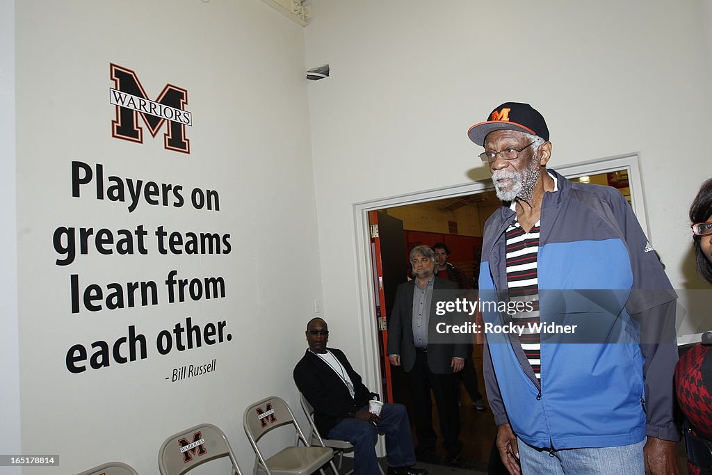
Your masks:
M 257 442 L 264 434 L 287 424 L 293 424 L 295 432 L 305 447 L 286 447 L 273 456 L 266 457 Z M 245 409 L 243 425 L 247 438 L 255 451 L 254 474 L 308 475 L 331 464 L 334 451 L 328 447 L 311 446 L 309 440 L 294 418 L 292 409 L 280 397 L 272 396 L 251 404 Z

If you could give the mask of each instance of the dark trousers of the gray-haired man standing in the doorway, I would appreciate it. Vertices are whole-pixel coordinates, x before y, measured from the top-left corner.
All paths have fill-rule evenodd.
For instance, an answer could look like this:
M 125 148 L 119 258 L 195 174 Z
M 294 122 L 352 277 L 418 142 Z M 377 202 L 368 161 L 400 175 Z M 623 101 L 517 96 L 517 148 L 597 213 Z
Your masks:
M 443 436 L 443 448 L 449 454 L 458 454 L 462 444 L 460 436 L 460 408 L 457 404 L 459 387 L 456 375 L 438 375 L 428 367 L 428 354 L 418 351 L 415 365 L 407 372 L 408 382 L 413 397 L 415 434 L 418 439 L 417 452 L 425 453 L 435 449 L 437 435 L 432 425 L 432 390 L 440 419 L 440 432 Z

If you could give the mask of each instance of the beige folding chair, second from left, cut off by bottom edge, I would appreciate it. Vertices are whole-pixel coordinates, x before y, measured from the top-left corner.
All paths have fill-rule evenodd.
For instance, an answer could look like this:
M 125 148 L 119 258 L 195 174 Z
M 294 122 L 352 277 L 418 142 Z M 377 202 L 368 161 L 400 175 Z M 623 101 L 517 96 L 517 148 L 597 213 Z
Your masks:
M 231 473 L 242 475 L 225 433 L 213 424 L 198 424 L 163 442 L 158 451 L 158 469 L 161 475 L 183 475 L 207 461 L 225 456 L 231 461 Z

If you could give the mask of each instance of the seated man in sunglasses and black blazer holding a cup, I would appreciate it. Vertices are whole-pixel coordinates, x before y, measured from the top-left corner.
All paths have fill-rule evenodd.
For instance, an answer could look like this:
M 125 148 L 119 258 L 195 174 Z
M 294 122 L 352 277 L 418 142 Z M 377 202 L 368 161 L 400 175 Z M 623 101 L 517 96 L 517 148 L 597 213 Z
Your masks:
M 412 466 L 415 454 L 405 407 L 383 404 L 380 416 L 368 412 L 369 400 L 377 395 L 363 385 L 341 350 L 326 347 L 326 322 L 310 320 L 306 337 L 309 349 L 294 368 L 294 382 L 314 407 L 322 437 L 354 446 L 354 474 L 379 473 L 375 444 L 382 432 L 386 434 L 389 475 L 426 475 L 427 471 Z

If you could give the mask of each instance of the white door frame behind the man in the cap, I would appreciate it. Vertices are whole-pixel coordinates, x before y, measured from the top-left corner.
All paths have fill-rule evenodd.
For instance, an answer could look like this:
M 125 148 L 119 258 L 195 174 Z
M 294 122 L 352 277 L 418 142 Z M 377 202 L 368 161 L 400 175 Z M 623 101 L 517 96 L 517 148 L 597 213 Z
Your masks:
M 583 175 L 614 172 L 625 169 L 628 171 L 628 180 L 631 192 L 631 204 L 640 225 L 650 239 L 647 212 L 645 208 L 643 182 L 640 172 L 639 157 L 637 153 L 617 155 L 601 160 L 562 165 L 556 171 L 569 179 Z M 367 202 L 353 204 L 354 229 L 356 231 L 356 270 L 359 288 L 359 318 L 361 320 L 361 348 L 364 357 L 364 380 L 368 387 L 381 388 L 381 370 L 378 355 L 378 331 L 376 325 L 376 297 L 372 281 L 373 265 L 371 256 L 371 239 L 368 226 L 368 212 L 376 209 L 405 206 L 430 202 L 436 199 L 461 197 L 466 194 L 488 192 L 493 189 L 491 180 L 481 180 L 457 184 L 452 187 L 429 189 L 422 192 L 401 194 L 396 197 L 374 199 Z

